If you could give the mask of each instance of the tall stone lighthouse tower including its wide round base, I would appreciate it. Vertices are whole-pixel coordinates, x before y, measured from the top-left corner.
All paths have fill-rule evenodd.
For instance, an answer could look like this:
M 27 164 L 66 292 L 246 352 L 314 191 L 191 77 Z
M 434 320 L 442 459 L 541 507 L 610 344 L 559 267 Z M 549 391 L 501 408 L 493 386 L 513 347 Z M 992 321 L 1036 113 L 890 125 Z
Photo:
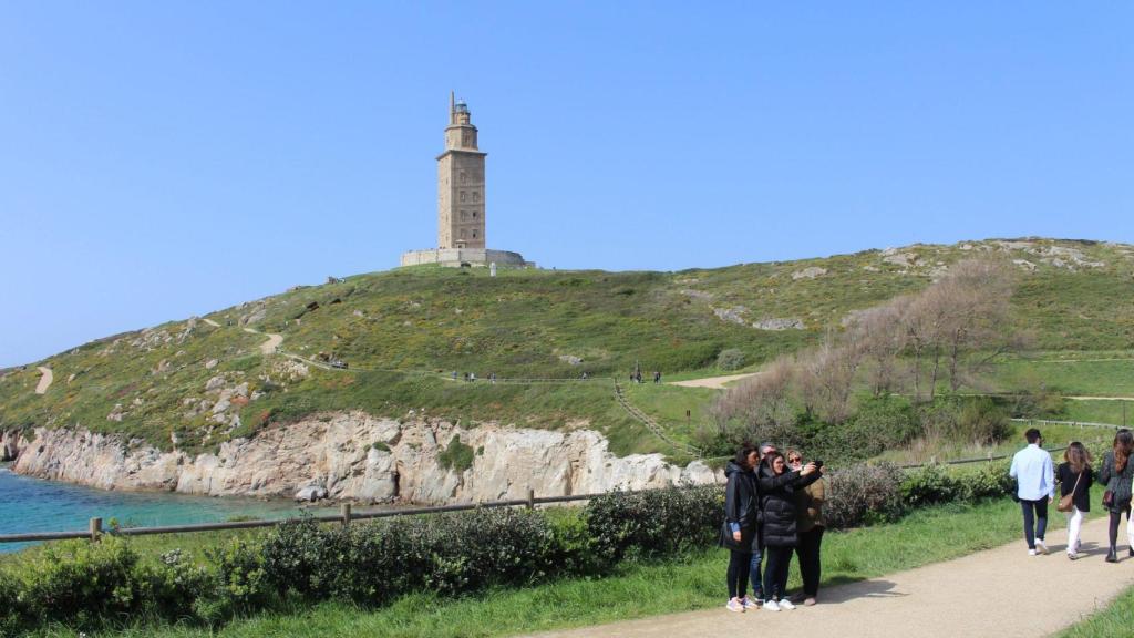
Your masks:
M 464 100 L 449 93 L 445 151 L 437 157 L 437 247 L 401 253 L 401 266 L 535 266 L 485 243 L 484 158 Z

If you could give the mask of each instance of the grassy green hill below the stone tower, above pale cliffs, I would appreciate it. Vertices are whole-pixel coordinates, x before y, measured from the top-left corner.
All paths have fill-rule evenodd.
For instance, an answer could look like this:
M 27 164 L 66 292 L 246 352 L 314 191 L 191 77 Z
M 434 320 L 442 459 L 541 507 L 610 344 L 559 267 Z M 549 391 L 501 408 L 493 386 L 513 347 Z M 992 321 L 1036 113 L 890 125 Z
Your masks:
M 1122 244 L 984 241 L 680 272 L 501 270 L 491 278 L 485 269 L 420 267 L 298 287 L 7 370 L 0 377 L 0 428 L 82 426 L 163 448 L 177 440 L 202 450 L 323 410 L 387 417 L 413 410 L 466 423 L 560 428 L 585 421 L 606 431 L 619 453 L 667 451 L 618 406 L 609 380 L 489 386 L 445 377 L 472 371 L 481 379 L 490 372 L 577 378 L 586 371 L 621 378 L 635 362 L 667 378 L 706 376 L 717 373 L 723 349 L 741 350 L 752 369 L 815 343 L 849 312 L 922 289 L 948 265 L 979 254 L 1002 255 L 1019 270 L 1014 321 L 1034 337 L 1032 359 L 1080 351 L 1129 356 L 1134 246 Z M 299 377 L 281 354 L 261 354 L 266 337 L 245 327 L 282 335 L 281 352 L 327 353 L 350 370 L 311 367 Z M 772 327 L 784 329 L 764 329 Z M 1036 375 L 1058 379 L 1064 372 L 1043 370 L 1074 366 L 1021 361 L 1007 373 L 1014 383 Z M 44 395 L 34 393 L 36 366 L 54 372 Z M 1114 366 L 1124 370 L 1119 377 L 1101 376 L 1108 388 L 1123 391 L 1129 367 Z M 1085 369 L 1073 376 L 1076 392 L 1092 375 L 1100 376 Z M 226 387 L 248 384 L 254 398 L 234 408 L 238 423 L 217 423 L 208 411 L 194 410 L 212 401 L 205 388 L 217 377 Z M 685 408 L 686 420 L 700 418 L 712 396 L 683 392 L 636 392 L 632 400 L 655 406 L 680 429 L 683 406 L 692 406 Z

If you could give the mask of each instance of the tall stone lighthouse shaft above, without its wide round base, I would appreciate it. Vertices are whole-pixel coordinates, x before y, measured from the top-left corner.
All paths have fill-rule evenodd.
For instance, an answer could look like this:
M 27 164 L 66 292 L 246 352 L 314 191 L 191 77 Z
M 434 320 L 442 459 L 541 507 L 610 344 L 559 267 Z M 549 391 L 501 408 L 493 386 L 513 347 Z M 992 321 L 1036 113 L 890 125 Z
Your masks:
M 484 157 L 468 106 L 449 93 L 445 152 L 437 157 L 437 245 L 484 247 Z

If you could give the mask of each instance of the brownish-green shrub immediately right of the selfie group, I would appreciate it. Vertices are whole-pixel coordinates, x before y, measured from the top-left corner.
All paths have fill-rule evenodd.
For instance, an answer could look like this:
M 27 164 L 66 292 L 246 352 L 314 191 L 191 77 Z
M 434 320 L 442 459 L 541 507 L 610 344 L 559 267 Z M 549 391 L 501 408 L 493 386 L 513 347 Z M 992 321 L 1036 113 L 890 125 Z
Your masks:
M 889 463 L 850 465 L 830 476 L 823 504 L 827 524 L 846 529 L 902 513 L 902 470 Z

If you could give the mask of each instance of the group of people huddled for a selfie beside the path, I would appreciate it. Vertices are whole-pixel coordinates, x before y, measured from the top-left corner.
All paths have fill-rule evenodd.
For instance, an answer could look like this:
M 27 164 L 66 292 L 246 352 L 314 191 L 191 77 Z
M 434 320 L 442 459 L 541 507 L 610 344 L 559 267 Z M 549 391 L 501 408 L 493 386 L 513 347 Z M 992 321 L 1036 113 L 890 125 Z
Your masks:
M 822 468 L 822 462 L 804 463 L 794 450 L 781 454 L 770 443 L 745 445 L 728 462 L 720 542 L 729 549 L 729 611 L 794 610 L 786 595 L 793 554 L 803 576 L 795 602 L 815 604 L 824 528 Z

